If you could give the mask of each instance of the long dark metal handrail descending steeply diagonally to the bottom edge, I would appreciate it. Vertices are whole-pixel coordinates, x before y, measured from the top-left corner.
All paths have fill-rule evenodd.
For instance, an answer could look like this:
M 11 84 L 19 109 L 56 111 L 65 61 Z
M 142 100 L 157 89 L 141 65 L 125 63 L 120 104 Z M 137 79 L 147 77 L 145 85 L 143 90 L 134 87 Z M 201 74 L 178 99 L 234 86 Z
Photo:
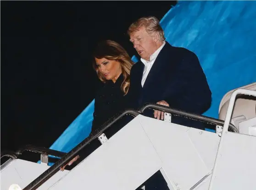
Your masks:
M 80 150 L 82 150 L 86 145 L 88 145 L 95 138 L 100 136 L 107 128 L 121 119 L 124 115 L 130 114 L 134 117 L 139 115 L 139 112 L 135 110 L 126 110 L 122 114 L 112 117 L 105 124 L 101 125 L 99 129 L 95 130 L 86 139 L 80 142 L 76 147 L 74 147 L 70 152 L 68 152 L 64 157 L 61 157 L 54 165 L 48 168 L 43 174 L 39 175 L 35 180 L 33 180 L 29 185 L 27 185 L 23 190 L 36 190 L 40 185 L 47 181 L 51 176 L 59 171 L 61 166 L 65 165 L 70 159 L 75 157 Z

